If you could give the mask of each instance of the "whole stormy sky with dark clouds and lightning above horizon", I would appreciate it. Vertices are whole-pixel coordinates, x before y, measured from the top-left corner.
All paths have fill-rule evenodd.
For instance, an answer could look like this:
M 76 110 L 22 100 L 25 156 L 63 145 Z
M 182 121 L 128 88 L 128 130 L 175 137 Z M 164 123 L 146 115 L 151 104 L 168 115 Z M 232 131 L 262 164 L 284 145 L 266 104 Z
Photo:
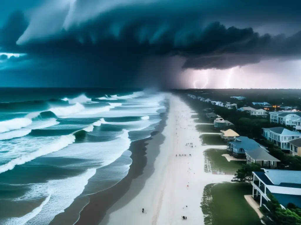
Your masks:
M 1 87 L 300 88 L 299 0 L 2 0 Z

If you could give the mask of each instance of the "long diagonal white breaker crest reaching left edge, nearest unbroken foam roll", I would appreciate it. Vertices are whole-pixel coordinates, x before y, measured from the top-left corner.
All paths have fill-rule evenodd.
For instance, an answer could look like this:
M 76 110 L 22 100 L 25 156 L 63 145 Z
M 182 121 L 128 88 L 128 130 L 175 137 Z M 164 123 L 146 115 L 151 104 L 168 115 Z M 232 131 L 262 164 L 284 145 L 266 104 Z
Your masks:
M 52 152 L 57 152 L 60 149 L 67 147 L 68 145 L 75 142 L 75 136 L 73 134 L 61 136 L 59 140 L 51 143 L 47 146 L 43 146 L 35 152 L 30 152 L 28 154 L 22 155 L 18 158 L 12 159 L 10 162 L 0 166 L 0 173 L 4 173 L 8 170 L 14 169 L 17 165 L 25 164 L 35 158 L 41 157 L 43 155 L 50 154 Z

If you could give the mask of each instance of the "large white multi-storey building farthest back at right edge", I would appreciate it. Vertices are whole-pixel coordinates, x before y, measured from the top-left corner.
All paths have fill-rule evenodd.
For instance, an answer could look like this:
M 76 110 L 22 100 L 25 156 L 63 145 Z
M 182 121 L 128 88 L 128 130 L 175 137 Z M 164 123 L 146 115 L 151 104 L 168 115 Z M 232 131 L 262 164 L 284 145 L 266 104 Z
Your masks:
M 288 126 L 296 126 L 298 119 L 301 118 L 301 112 L 297 111 L 290 111 L 290 112 L 285 112 L 285 111 L 273 111 L 270 112 L 270 122 L 271 123 L 278 123 L 278 124 L 285 124 Z M 299 123 L 300 125 L 300 123 Z

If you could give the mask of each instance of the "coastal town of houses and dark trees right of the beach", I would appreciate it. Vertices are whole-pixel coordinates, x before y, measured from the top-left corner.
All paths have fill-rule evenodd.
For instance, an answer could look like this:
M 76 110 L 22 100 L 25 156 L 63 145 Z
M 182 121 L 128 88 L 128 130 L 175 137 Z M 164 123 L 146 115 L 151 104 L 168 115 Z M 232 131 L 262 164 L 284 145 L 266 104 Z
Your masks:
M 203 96 L 203 93 L 187 94 L 186 99 L 198 113 L 199 120 L 208 122 L 209 131 L 219 134 L 210 138 L 220 142 L 219 138 L 225 144 L 225 149 L 215 150 L 215 154 L 223 153 L 219 157 L 224 157 L 229 164 L 239 163 L 232 182 L 248 185 L 245 202 L 253 208 L 261 223 L 284 224 L 281 221 L 285 220 L 298 224 L 301 211 L 301 111 L 298 107 L 268 102 L 242 105 L 241 102 L 246 100 L 243 96 L 231 96 L 232 101 L 225 102 Z M 207 145 L 209 137 L 202 135 L 200 138 L 203 145 Z M 212 173 L 225 172 L 219 169 Z

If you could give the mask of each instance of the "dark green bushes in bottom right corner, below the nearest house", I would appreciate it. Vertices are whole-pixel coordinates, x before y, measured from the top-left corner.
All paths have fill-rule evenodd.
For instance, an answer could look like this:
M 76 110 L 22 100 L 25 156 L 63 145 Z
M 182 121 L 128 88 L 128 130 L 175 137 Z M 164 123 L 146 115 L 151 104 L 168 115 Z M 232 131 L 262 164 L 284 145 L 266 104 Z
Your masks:
M 287 209 L 281 207 L 277 199 L 271 194 L 268 195 L 271 201 L 262 206 L 261 211 L 264 214 L 262 220 L 266 225 L 301 225 L 301 209 L 296 205 L 289 203 Z

